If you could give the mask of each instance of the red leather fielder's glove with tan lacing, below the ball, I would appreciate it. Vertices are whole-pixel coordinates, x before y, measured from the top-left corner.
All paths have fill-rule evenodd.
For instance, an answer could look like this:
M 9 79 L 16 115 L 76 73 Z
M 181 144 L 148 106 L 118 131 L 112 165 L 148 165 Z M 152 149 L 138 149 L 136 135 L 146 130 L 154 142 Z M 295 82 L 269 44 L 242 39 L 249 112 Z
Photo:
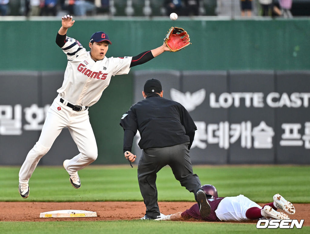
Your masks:
M 189 44 L 192 44 L 189 41 L 187 32 L 178 27 L 171 27 L 164 39 L 171 52 L 182 50 Z

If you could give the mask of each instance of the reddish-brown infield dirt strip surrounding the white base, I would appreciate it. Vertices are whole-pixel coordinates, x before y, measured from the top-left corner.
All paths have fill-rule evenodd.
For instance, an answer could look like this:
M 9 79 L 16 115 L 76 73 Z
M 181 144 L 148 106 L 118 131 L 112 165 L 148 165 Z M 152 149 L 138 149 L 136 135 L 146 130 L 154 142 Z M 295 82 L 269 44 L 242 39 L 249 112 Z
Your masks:
M 193 202 L 158 202 L 163 214 L 184 211 Z M 263 204 L 260 204 L 263 205 Z M 296 213 L 291 219 L 304 219 L 303 226 L 310 225 L 310 204 L 294 204 Z M 144 216 L 143 202 L 0 202 L 0 221 L 104 221 L 104 220 L 132 220 Z M 84 218 L 39 218 L 40 213 L 52 210 L 88 210 L 97 212 L 98 217 Z M 254 222 L 254 221 L 253 221 Z M 255 222 L 256 223 L 256 222 Z

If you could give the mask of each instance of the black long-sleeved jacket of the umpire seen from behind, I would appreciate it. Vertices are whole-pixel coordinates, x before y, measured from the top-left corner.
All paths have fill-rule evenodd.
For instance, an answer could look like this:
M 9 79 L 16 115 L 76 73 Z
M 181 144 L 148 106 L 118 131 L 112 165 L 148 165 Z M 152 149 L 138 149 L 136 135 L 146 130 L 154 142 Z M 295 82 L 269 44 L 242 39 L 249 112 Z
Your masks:
M 130 151 L 139 130 L 141 149 L 168 147 L 189 142 L 191 147 L 197 127 L 180 103 L 149 94 L 132 105 L 120 122 L 124 129 L 124 152 Z

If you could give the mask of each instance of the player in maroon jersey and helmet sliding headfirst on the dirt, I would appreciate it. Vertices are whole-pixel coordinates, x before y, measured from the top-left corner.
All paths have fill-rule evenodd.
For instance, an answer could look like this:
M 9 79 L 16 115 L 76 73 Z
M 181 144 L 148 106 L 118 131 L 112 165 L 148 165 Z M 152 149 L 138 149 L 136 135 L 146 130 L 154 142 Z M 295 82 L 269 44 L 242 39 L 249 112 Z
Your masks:
M 273 202 L 262 206 L 243 195 L 219 197 L 217 189 L 210 184 L 202 185 L 211 206 L 211 213 L 208 217 L 202 218 L 199 213 L 198 203 L 184 212 L 175 214 L 163 215 L 156 220 L 172 220 L 182 221 L 186 219 L 200 219 L 205 221 L 226 221 L 226 222 L 244 222 L 255 219 L 290 219 L 283 212 L 278 212 L 277 209 L 284 210 L 288 214 L 294 214 L 295 208 L 292 203 L 286 201 L 280 194 L 273 196 Z

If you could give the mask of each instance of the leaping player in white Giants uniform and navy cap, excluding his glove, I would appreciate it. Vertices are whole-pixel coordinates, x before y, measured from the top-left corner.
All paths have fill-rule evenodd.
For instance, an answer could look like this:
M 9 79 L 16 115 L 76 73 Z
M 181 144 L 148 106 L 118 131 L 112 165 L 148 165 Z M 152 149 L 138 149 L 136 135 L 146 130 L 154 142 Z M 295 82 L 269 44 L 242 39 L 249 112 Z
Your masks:
M 89 42 L 91 51 L 86 51 L 80 42 L 66 36 L 74 22 L 70 15 L 62 17 L 62 26 L 56 36 L 56 43 L 67 55 L 68 64 L 64 82 L 48 110 L 40 138 L 20 168 L 18 190 L 23 198 L 29 196 L 29 179 L 39 160 L 49 151 L 64 127 L 68 127 L 80 153 L 65 160 L 63 166 L 69 173 L 72 186 L 80 188 L 78 170 L 95 161 L 98 155 L 88 116 L 89 107 L 100 99 L 111 76 L 127 74 L 131 67 L 143 64 L 164 51 L 170 51 L 163 43 L 156 49 L 133 57 L 107 58 L 105 55 L 112 44 L 108 35 L 104 32 L 94 33 Z

